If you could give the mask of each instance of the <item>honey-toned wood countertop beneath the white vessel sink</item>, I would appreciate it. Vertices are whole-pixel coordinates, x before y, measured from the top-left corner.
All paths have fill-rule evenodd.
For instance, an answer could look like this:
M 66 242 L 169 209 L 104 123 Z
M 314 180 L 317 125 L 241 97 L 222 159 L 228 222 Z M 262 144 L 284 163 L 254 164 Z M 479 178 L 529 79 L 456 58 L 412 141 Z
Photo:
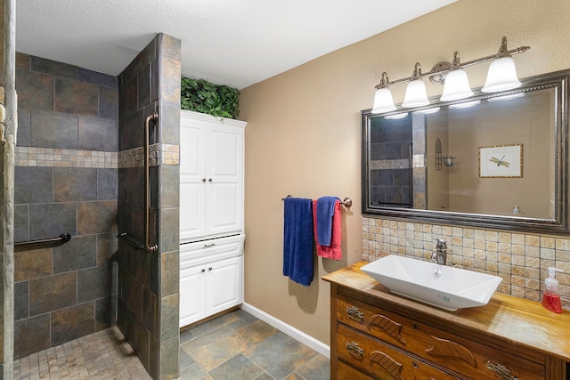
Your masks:
M 355 263 L 322 279 L 340 286 L 341 292 L 368 302 L 378 301 L 386 310 L 403 313 L 419 322 L 452 328 L 470 336 L 498 337 L 509 344 L 528 347 L 536 352 L 570 362 L 570 312 L 557 314 L 542 304 L 513 295 L 495 293 L 485 306 L 444 311 L 400 295 L 392 295 L 375 279 L 360 270 L 368 262 Z

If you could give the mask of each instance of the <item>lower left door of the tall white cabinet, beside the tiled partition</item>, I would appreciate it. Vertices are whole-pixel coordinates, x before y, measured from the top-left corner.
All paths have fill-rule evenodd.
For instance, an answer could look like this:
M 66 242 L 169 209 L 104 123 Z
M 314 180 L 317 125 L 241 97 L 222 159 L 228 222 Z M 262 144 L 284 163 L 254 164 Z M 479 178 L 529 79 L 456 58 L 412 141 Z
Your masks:
M 206 317 L 205 271 L 203 265 L 180 271 L 180 327 Z

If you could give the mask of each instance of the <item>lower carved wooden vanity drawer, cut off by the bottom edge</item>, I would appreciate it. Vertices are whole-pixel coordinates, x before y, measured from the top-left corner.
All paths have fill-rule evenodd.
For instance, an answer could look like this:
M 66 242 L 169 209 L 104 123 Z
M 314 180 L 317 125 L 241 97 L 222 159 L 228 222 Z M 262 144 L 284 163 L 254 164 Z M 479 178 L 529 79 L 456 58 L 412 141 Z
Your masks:
M 378 340 L 338 324 L 338 357 L 381 379 L 457 379 Z

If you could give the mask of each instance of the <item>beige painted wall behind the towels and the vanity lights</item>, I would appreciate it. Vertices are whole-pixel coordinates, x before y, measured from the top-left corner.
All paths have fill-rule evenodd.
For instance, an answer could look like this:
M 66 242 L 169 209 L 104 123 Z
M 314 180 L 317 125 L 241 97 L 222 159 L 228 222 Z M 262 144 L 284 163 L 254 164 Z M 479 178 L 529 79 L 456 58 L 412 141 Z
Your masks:
M 389 16 L 389 15 L 384 15 Z M 362 257 L 360 110 L 370 109 L 382 71 L 392 79 L 450 61 L 531 45 L 515 58 L 520 77 L 570 68 L 567 0 L 460 0 L 244 89 L 240 118 L 246 128 L 245 301 L 325 344 L 330 344 L 329 284 L 320 278 Z M 294 28 L 294 26 L 292 26 Z M 291 47 L 294 49 L 294 46 Z M 485 82 L 487 65 L 468 69 L 472 86 Z M 396 85 L 396 102 L 404 85 Z M 428 95 L 442 88 L 428 85 Z M 344 259 L 318 260 L 310 287 L 281 275 L 281 198 L 350 197 L 344 214 Z

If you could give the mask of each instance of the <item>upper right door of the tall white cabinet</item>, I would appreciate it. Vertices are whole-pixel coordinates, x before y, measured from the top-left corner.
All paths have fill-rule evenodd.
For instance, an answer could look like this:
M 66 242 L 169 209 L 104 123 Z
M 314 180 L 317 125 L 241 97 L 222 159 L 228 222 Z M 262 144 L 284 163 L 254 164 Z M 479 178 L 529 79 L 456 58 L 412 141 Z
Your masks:
M 208 125 L 206 233 L 240 231 L 243 223 L 243 128 Z

